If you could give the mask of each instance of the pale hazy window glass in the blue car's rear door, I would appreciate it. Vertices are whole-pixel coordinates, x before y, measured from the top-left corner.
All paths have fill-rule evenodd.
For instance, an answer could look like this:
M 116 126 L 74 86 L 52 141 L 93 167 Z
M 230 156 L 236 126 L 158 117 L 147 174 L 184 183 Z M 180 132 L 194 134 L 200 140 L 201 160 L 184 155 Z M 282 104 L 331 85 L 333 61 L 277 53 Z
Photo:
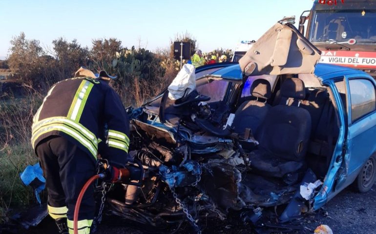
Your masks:
M 367 79 L 350 79 L 351 119 L 357 119 L 376 110 L 375 86 Z

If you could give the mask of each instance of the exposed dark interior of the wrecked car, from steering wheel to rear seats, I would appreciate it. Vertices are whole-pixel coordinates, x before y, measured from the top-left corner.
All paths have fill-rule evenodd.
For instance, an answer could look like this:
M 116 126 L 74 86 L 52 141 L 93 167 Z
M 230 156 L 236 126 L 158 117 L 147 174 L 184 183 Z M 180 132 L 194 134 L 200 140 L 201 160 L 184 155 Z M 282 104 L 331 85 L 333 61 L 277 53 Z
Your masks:
M 197 93 L 213 97 L 208 101 L 210 110 L 203 111 L 202 107 L 196 110 L 198 116 L 202 115 L 201 124 L 191 121 L 192 112 L 187 111 L 187 106 L 177 106 L 168 98 L 159 98 L 148 108 L 164 106 L 160 108 L 164 110 L 163 118 L 180 131 L 187 128 L 198 135 L 239 136 L 238 142 L 248 155 L 251 168 L 242 180 L 240 194 L 246 193 L 242 197 L 250 199 L 249 202 L 266 199 L 269 201 L 263 205 L 273 206 L 276 203 L 272 202 L 272 195 L 289 195 L 288 199 L 308 169 L 317 179 L 324 179 L 339 123 L 327 88 L 314 76 L 257 76 L 249 80 L 240 85 L 199 79 Z M 222 134 L 221 126 L 230 113 L 234 114 L 231 131 Z M 215 126 L 221 131 L 215 130 Z M 250 143 L 250 138 L 257 143 Z M 277 200 L 284 201 L 281 197 Z

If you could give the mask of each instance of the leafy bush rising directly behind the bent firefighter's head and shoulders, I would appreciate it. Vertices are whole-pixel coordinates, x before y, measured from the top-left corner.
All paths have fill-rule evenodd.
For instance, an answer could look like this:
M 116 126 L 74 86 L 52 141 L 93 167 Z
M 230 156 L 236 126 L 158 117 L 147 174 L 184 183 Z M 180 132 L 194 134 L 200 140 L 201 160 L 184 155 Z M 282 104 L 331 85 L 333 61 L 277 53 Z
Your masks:
M 87 47 L 81 47 L 76 39 L 68 42 L 64 38 L 58 38 L 52 41 L 54 56 L 57 60 L 57 71 L 59 77 L 72 77 L 74 72 L 80 66 L 86 66 L 89 51 Z

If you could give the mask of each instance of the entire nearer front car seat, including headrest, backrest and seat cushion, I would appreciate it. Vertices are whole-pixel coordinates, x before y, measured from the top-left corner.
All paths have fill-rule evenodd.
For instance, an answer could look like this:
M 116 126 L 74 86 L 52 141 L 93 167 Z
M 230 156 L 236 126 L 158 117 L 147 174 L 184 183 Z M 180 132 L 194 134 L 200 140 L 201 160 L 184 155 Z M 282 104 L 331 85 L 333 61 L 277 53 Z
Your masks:
M 258 149 L 252 151 L 249 158 L 255 173 L 286 178 L 305 165 L 311 116 L 306 109 L 299 107 L 305 98 L 302 80 L 286 79 L 281 86 L 281 96 L 292 99 L 296 105 L 288 105 L 289 101 L 286 101 L 270 108 L 256 135 L 260 143 Z

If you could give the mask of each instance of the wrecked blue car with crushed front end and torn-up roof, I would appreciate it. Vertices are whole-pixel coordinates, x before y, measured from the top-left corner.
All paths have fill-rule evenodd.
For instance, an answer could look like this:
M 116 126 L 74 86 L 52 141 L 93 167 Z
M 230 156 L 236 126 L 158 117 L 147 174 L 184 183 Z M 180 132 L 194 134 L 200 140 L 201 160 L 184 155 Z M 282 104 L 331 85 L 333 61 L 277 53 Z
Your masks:
M 143 185 L 115 185 L 108 209 L 150 231 L 184 221 L 198 231 L 201 220 L 230 211 L 253 224 L 283 223 L 351 184 L 369 191 L 375 80 L 319 58 L 291 21 L 280 21 L 239 63 L 188 71 L 184 89 L 182 78 L 129 108 L 129 155 L 145 169 Z

